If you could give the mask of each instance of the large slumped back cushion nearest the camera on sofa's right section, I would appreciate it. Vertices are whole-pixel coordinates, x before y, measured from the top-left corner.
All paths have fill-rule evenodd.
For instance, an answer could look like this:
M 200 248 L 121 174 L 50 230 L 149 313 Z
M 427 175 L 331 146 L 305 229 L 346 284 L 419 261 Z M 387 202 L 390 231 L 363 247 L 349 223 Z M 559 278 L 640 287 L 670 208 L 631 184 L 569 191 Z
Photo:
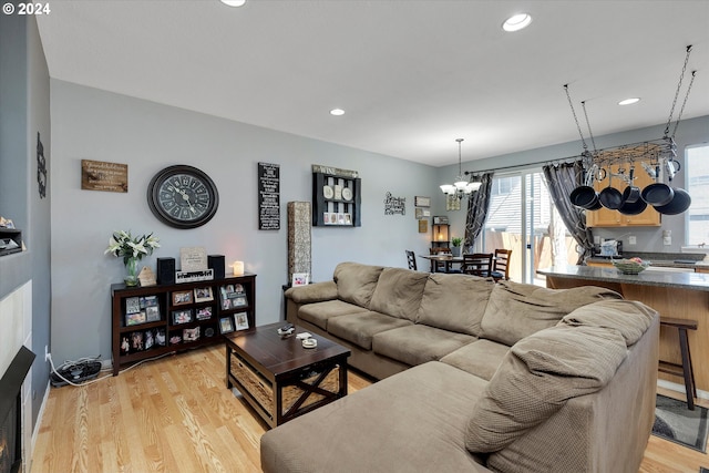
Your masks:
M 617 330 L 556 326 L 511 348 L 474 405 L 465 445 L 496 452 L 558 411 L 572 398 L 596 392 L 627 353 Z

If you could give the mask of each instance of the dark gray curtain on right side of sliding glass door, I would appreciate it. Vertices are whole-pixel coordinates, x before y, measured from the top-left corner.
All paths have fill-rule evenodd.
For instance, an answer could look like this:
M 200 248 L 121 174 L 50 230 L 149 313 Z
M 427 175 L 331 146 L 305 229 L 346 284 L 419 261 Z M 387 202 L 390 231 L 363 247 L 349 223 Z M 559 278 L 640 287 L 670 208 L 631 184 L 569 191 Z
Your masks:
M 543 169 L 552 200 L 562 216 L 566 229 L 584 249 L 583 254 L 579 253 L 576 261 L 577 265 L 580 265 L 587 256 L 593 256 L 594 235 L 590 228 L 586 227 L 586 210 L 572 204 L 568 196 L 572 191 L 584 183 L 583 163 L 576 161 L 574 163 L 548 164 L 543 166 Z

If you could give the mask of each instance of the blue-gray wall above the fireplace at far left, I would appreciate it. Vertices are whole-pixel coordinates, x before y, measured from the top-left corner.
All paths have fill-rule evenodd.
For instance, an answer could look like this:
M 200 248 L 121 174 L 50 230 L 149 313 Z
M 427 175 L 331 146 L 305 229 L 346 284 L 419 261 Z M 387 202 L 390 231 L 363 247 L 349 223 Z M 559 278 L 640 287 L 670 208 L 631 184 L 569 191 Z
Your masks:
M 33 17 L 0 17 L 0 215 L 22 229 L 27 251 L 0 258 L 0 299 L 32 281 L 32 422 L 47 391 L 50 345 L 50 198 L 37 187 L 37 133 L 51 163 L 49 72 Z M 51 183 L 51 178 L 50 178 Z M 21 317 L 17 313 L 12 317 Z M 8 321 L 0 320 L 1 327 Z

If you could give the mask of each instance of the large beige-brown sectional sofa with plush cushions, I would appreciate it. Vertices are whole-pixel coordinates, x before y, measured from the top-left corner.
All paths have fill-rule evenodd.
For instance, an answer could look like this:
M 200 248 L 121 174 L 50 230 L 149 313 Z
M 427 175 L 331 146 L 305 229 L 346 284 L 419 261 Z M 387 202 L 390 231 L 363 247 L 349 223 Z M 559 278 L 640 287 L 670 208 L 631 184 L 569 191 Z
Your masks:
M 286 301 L 381 381 L 267 432 L 265 472 L 638 470 L 659 331 L 640 302 L 356 263 Z

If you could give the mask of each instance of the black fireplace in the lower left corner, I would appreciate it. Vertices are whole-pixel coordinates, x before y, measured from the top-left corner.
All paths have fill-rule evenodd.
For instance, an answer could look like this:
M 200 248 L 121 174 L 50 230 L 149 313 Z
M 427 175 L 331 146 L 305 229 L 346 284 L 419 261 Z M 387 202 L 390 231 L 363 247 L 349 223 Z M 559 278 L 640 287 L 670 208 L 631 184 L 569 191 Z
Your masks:
M 22 383 L 33 360 L 21 347 L 0 380 L 0 473 L 22 467 Z

